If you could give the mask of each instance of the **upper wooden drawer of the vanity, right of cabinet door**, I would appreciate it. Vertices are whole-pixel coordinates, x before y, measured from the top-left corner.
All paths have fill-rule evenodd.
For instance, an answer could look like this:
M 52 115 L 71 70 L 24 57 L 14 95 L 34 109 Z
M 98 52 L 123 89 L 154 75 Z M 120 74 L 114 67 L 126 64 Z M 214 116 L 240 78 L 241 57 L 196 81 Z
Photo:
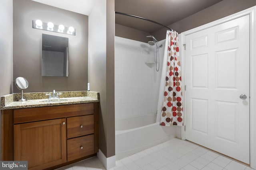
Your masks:
M 94 115 L 68 117 L 67 138 L 80 137 L 94 133 Z

